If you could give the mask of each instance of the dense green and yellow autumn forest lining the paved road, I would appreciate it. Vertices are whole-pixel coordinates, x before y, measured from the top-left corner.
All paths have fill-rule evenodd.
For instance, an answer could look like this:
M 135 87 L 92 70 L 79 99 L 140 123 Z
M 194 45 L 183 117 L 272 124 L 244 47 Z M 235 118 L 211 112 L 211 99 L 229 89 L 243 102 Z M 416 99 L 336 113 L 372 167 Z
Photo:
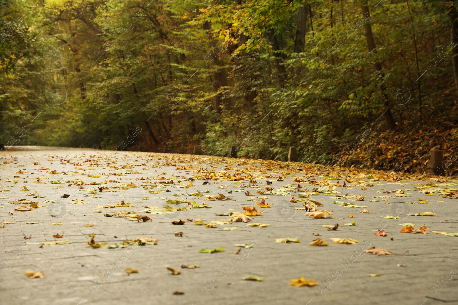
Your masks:
M 457 8 L 2 0 L 0 143 L 424 171 L 458 156 Z

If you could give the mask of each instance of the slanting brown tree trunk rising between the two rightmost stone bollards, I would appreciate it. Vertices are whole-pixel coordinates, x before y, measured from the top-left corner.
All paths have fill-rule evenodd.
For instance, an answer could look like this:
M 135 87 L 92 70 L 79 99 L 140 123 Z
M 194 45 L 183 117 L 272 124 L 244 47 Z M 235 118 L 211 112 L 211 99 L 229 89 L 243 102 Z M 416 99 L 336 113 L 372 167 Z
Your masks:
M 367 0 L 363 0 L 361 5 L 361 11 L 363 12 L 363 17 L 369 18 L 371 14 L 369 13 L 369 7 L 367 5 Z M 374 41 L 374 36 L 372 35 L 372 27 L 371 25 L 366 22 L 364 26 L 364 33 L 366 36 L 366 42 L 367 42 L 367 48 L 369 51 L 373 53 L 377 53 L 377 50 L 375 49 L 375 41 Z M 374 69 L 377 70 L 377 72 L 384 77 L 383 70 L 382 70 L 382 65 L 378 62 L 374 64 Z M 381 93 L 382 93 L 382 98 L 383 98 L 383 108 L 385 109 L 383 112 L 383 118 L 385 118 L 385 123 L 387 125 L 387 128 L 390 130 L 394 130 L 396 128 L 396 123 L 394 122 L 393 114 L 391 113 L 390 109 L 390 104 L 388 102 L 388 96 L 385 93 L 385 86 L 382 84 L 379 87 Z

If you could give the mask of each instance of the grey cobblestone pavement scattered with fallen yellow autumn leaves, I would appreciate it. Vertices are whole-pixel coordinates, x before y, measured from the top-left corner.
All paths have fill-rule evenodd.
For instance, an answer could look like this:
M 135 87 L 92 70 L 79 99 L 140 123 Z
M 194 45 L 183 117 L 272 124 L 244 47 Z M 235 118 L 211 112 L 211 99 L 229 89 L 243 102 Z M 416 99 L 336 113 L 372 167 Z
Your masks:
M 395 173 L 336 173 L 323 166 L 258 162 L 90 149 L 10 148 L 0 159 L 0 190 L 4 192 L 0 193 L 0 220 L 16 223 L 0 229 L 0 304 L 458 304 L 458 238 L 431 232 L 458 232 L 458 199 L 442 198 L 444 194 L 456 196 L 456 181 L 435 180 L 436 185 L 427 185 L 429 180 L 397 177 Z M 273 177 L 267 178 L 269 175 Z M 277 181 L 278 177 L 284 180 Z M 347 186 L 343 187 L 345 177 Z M 273 183 L 267 185 L 267 180 Z M 297 181 L 301 180 L 298 192 Z M 260 194 L 266 187 L 272 187 L 273 192 Z M 383 193 L 394 190 L 398 193 Z M 253 195 L 245 195 L 247 191 Z M 233 200 L 203 200 L 218 197 L 218 193 Z M 70 196 L 61 198 L 64 194 Z M 303 198 L 307 194 L 309 198 Z M 349 197 L 352 194 L 365 198 L 351 201 L 358 199 Z M 202 197 L 208 195 L 211 197 Z M 373 198 L 383 195 L 392 198 Z M 290 202 L 291 196 L 298 202 Z M 242 206 L 261 202 L 263 198 L 258 197 L 265 197 L 271 207 L 258 206 L 258 212 L 264 213 L 248 223 L 208 228 L 186 220 L 206 219 L 202 221 L 205 224 L 229 219 L 229 215 L 215 214 L 242 212 Z M 191 204 L 196 201 L 201 207 L 207 203 L 212 208 L 186 209 L 190 207 L 186 202 L 169 201 L 170 208 L 164 209 L 165 198 Z M 24 201 L 10 203 L 20 199 L 38 202 L 38 208 L 15 211 L 30 206 Z M 300 208 L 308 199 L 323 203 L 319 209 L 332 211 L 338 219 L 305 216 L 306 211 Z M 121 201 L 131 206 L 97 208 Z M 333 201 L 367 208 L 339 206 Z M 414 204 L 420 202 L 431 204 Z M 370 213 L 359 213 L 362 209 Z M 94 213 L 97 210 L 102 213 Z M 152 221 L 132 221 L 135 214 L 127 214 L 131 219 L 104 217 L 125 210 L 149 210 L 152 213 L 139 214 Z M 437 216 L 409 215 L 423 212 Z M 386 215 L 399 219 L 382 218 Z M 186 223 L 170 222 L 179 219 Z M 352 221 L 356 226 L 344 225 Z M 36 224 L 24 224 L 27 222 Z M 62 225 L 53 225 L 57 222 Z M 270 226 L 247 226 L 253 223 Z M 322 227 L 336 223 L 340 224 L 338 230 Z M 404 223 L 414 223 L 414 229 L 425 225 L 428 234 L 400 233 Z M 228 228 L 238 230 L 224 230 Z M 375 236 L 378 229 L 387 236 Z M 182 231 L 183 236 L 175 236 L 175 231 Z M 64 236 L 53 237 L 56 234 Z M 90 246 L 86 243 L 90 234 L 95 234 L 96 243 L 124 247 Z M 158 242 L 123 244 L 138 237 Z M 276 243 L 276 238 L 284 237 L 301 241 Z M 330 246 L 309 246 L 318 237 Z M 333 237 L 360 242 L 335 244 Z M 70 243 L 40 247 L 45 241 L 63 240 Z M 235 244 L 256 246 L 240 248 Z M 409 251 L 386 256 L 362 251 L 372 246 L 394 253 Z M 204 248 L 221 247 L 224 252 L 199 253 Z M 241 249 L 238 255 L 234 254 L 237 249 Z M 180 268 L 182 264 L 200 268 Z M 181 274 L 172 275 L 165 266 L 180 269 Z M 126 268 L 138 269 L 138 273 L 127 275 Z M 27 271 L 43 271 L 44 278 L 28 278 L 24 275 Z M 369 277 L 368 273 L 380 275 Z M 250 275 L 265 280 L 241 279 Z M 318 285 L 288 285 L 301 276 Z M 184 294 L 174 295 L 177 290 Z

